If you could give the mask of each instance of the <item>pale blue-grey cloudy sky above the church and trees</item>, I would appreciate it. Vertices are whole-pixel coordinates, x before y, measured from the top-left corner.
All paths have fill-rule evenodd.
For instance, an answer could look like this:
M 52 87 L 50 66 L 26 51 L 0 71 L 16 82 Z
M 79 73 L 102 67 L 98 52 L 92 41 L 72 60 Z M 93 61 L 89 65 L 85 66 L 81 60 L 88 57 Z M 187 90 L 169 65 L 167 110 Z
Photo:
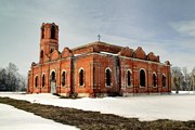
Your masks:
M 0 67 L 27 75 L 40 26 L 60 26 L 60 51 L 98 40 L 142 47 L 172 66 L 195 66 L 195 0 L 0 0 Z

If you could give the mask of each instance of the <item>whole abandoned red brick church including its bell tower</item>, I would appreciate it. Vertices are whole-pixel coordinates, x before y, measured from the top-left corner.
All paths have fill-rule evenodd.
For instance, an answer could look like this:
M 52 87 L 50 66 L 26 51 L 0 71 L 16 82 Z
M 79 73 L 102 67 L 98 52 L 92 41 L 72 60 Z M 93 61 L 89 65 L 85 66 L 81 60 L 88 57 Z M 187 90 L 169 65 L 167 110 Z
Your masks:
M 105 96 L 169 93 L 170 63 L 153 52 L 95 41 L 58 51 L 58 26 L 42 24 L 39 63 L 28 72 L 28 93 Z

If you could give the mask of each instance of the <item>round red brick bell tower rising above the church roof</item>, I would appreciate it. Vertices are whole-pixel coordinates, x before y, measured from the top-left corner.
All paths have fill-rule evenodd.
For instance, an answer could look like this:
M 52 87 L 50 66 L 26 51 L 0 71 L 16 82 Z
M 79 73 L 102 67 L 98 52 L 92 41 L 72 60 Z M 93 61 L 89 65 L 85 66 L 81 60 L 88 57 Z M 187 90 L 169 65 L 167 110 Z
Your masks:
M 58 51 L 58 26 L 54 23 L 42 23 L 40 29 L 41 37 L 39 63 L 44 63 L 54 50 Z

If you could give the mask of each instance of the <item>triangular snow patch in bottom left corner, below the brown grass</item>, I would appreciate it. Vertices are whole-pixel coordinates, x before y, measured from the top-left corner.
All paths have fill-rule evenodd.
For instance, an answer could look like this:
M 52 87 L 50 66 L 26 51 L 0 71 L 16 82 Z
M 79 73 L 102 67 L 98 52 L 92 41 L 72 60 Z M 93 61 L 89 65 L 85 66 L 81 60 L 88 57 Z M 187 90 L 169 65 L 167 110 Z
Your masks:
M 44 119 L 10 105 L 0 104 L 1 130 L 77 130 L 70 127 Z

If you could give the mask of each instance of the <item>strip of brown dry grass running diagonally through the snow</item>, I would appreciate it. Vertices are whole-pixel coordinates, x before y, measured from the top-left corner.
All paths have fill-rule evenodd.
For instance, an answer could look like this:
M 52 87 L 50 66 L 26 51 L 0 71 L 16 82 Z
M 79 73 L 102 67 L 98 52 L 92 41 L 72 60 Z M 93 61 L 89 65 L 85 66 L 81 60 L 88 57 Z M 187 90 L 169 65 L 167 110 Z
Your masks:
M 195 120 L 173 121 L 160 119 L 139 121 L 138 118 L 125 118 L 112 114 L 101 114 L 100 112 L 42 105 L 9 98 L 0 98 L 0 103 L 12 105 L 56 122 L 76 126 L 82 130 L 195 130 Z

